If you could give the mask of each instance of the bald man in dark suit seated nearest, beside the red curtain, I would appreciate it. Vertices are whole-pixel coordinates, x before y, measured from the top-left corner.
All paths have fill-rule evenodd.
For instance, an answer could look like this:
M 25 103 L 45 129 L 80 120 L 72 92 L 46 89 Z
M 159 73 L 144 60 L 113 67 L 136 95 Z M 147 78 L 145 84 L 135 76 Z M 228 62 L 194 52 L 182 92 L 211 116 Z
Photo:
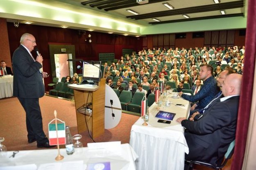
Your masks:
M 201 118 L 195 121 L 185 117 L 177 119 L 186 128 L 184 135 L 189 148 L 186 160 L 220 165 L 229 144 L 236 136 L 241 83 L 242 75 L 228 75 L 222 84 L 224 97 L 214 100 Z

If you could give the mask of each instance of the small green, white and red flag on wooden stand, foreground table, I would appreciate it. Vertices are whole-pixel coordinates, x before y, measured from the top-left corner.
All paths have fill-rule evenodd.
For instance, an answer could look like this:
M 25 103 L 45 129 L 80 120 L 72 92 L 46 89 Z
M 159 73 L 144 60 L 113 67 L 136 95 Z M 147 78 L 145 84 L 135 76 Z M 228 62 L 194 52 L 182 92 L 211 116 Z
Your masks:
M 66 130 L 65 130 L 65 122 L 57 119 L 57 111 L 54 110 L 54 117 L 50 123 L 48 124 L 49 129 L 49 144 L 58 146 L 58 155 L 55 158 L 56 161 L 63 159 L 64 157 L 60 155 L 59 145 L 66 144 Z M 54 121 L 54 124 L 51 124 Z M 57 121 L 60 121 L 58 124 Z

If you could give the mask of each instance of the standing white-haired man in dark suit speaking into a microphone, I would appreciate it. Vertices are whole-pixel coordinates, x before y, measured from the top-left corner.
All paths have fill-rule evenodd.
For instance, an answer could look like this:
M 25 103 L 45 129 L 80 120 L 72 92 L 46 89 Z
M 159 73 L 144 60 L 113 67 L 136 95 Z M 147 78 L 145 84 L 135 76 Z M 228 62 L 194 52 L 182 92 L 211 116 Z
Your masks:
M 14 96 L 26 112 L 28 143 L 37 141 L 38 148 L 51 148 L 49 140 L 43 132 L 42 115 L 39 97 L 45 93 L 43 78 L 48 74 L 41 72 L 43 57 L 39 54 L 36 60 L 31 51 L 36 46 L 32 34 L 25 33 L 20 38 L 20 46 L 14 51 L 12 62 L 14 72 Z

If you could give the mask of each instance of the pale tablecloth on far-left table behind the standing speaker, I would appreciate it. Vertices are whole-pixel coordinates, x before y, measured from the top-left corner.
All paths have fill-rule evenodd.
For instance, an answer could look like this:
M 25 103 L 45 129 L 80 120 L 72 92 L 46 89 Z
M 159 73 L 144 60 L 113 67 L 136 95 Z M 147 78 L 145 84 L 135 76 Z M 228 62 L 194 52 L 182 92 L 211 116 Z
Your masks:
M 4 97 L 12 97 L 13 81 L 14 78 L 11 75 L 5 75 L 0 77 L 0 99 Z

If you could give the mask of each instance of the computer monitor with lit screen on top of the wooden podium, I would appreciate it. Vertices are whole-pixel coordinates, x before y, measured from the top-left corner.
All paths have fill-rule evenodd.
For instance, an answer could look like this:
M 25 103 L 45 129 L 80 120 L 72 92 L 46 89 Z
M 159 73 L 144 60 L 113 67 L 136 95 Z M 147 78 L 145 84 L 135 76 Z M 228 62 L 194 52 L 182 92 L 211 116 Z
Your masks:
M 83 76 L 81 84 L 100 82 L 101 61 L 83 61 Z

